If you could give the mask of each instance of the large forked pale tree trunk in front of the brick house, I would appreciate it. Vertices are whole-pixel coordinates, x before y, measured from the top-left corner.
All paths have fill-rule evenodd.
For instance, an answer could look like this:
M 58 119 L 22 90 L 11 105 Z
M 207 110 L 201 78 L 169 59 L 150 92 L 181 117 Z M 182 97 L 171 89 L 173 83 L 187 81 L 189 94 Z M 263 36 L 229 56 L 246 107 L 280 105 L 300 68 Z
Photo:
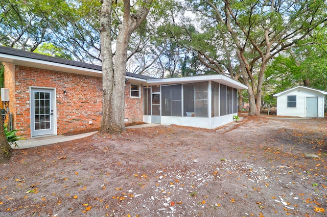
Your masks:
M 124 0 L 124 15 L 116 41 L 115 62 L 111 49 L 111 0 L 103 0 L 100 12 L 100 37 L 103 73 L 103 104 L 100 132 L 120 133 L 125 131 L 125 74 L 128 42 L 132 33 L 145 20 L 151 0 L 131 15 L 130 0 Z

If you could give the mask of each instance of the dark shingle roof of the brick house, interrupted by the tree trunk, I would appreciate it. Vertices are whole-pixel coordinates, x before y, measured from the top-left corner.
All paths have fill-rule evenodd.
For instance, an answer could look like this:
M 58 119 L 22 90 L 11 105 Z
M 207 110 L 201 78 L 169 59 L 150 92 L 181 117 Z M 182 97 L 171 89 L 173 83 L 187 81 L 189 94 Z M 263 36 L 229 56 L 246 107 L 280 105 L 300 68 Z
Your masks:
M 41 55 L 39 53 L 34 53 L 31 51 L 25 51 L 25 50 L 18 50 L 18 49 L 14 49 L 11 47 L 0 46 L 0 53 L 6 54 L 6 55 L 17 56 L 17 57 L 25 57 L 25 58 L 35 59 L 35 60 L 42 60 L 42 61 L 48 61 L 48 62 L 52 62 L 52 63 L 59 63 L 59 64 L 64 64 L 64 65 L 69 65 L 69 66 L 76 66 L 76 67 L 81 67 L 81 68 L 86 68 L 86 69 L 102 71 L 102 66 L 99 66 L 99 65 L 82 63 L 82 62 L 78 62 L 78 61 L 74 61 L 74 60 L 66 60 L 66 59 L 62 59 L 62 58 Z M 146 79 L 154 79 L 154 77 L 150 77 L 150 76 L 146 76 L 146 75 L 142 75 L 142 74 L 130 73 L 130 72 L 126 72 L 126 76 L 141 78 L 141 79 L 145 79 L 145 80 Z

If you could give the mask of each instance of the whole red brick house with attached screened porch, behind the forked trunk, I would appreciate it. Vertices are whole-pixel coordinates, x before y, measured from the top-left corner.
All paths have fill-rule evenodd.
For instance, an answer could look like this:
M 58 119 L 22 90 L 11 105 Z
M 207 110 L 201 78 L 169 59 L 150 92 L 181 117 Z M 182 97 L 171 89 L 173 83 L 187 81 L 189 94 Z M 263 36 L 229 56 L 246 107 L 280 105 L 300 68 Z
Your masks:
M 25 138 L 99 128 L 102 68 L 0 46 L 13 127 Z M 237 115 L 224 75 L 153 78 L 126 73 L 125 121 L 216 128 Z

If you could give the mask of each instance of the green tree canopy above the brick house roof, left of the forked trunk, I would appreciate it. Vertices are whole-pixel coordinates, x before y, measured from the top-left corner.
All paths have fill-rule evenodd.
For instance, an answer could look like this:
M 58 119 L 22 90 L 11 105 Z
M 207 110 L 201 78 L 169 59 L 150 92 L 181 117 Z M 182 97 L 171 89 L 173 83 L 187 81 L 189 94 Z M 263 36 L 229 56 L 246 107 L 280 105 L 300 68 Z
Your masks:
M 34 51 L 43 42 L 60 58 L 82 62 L 100 60 L 100 34 L 96 0 L 0 1 L 0 44 Z M 39 51 L 47 53 L 48 51 Z

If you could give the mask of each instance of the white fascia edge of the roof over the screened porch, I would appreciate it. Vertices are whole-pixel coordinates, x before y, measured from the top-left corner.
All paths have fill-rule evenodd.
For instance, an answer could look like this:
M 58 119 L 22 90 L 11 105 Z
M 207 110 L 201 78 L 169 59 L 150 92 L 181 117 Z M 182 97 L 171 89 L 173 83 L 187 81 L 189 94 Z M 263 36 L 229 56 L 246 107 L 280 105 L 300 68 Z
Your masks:
M 247 90 L 247 86 L 222 74 L 148 79 L 147 85 L 150 86 L 150 85 L 169 85 L 169 84 L 181 84 L 181 83 L 192 83 L 192 82 L 207 82 L 208 80 L 212 80 L 213 82 L 217 82 L 236 89 Z

